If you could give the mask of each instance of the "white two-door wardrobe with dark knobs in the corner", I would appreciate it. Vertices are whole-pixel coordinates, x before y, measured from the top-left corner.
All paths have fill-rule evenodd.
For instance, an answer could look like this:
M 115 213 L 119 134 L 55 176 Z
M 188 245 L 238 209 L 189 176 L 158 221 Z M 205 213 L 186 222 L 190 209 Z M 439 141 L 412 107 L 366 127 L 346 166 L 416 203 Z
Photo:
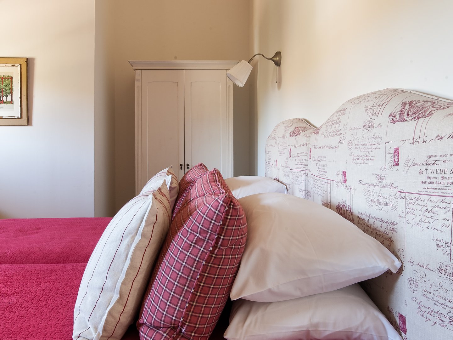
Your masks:
M 233 176 L 237 61 L 129 61 L 135 69 L 135 191 L 173 165 L 178 179 L 202 162 Z

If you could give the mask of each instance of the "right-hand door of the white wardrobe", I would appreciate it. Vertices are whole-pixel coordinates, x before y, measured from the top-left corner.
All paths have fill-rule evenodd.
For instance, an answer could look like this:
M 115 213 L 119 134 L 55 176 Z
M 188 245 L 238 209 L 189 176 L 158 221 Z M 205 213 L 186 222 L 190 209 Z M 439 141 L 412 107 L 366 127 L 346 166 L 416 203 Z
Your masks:
M 229 177 L 226 70 L 185 70 L 185 163 L 217 168 Z M 187 170 L 187 166 L 186 166 Z

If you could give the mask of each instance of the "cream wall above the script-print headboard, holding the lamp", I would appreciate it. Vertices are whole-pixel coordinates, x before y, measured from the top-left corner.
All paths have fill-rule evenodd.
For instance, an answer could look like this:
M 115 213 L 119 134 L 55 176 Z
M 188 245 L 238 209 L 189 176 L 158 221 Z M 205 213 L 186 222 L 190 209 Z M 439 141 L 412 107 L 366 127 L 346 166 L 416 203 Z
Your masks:
M 346 100 L 386 87 L 453 99 L 449 0 L 253 0 L 258 174 L 265 140 L 284 119 L 320 125 Z

